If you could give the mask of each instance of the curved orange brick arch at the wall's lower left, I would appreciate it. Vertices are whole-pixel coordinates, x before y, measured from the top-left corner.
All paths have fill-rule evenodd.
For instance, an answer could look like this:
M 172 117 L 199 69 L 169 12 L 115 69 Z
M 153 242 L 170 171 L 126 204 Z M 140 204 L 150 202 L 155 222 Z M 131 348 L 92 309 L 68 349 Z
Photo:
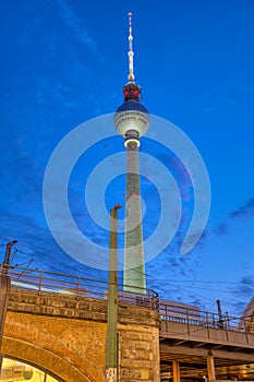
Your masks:
M 43 318 L 47 320 L 46 318 Z M 56 375 L 61 382 L 100 382 L 104 372 L 89 357 L 76 351 L 62 338 L 31 324 L 8 318 L 4 326 L 1 354 Z

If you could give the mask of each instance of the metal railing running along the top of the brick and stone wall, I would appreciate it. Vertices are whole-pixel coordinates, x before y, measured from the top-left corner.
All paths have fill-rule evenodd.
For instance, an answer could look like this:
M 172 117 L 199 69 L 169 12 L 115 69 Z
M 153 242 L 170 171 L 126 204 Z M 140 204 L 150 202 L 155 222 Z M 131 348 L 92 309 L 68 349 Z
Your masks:
M 95 298 L 101 301 L 105 301 L 108 295 L 108 282 L 95 278 L 3 264 L 0 266 L 0 274 L 9 275 L 12 289 L 31 290 L 38 295 L 51 294 L 73 299 Z M 118 284 L 119 302 L 158 310 L 159 299 L 155 290 L 137 287 L 135 290 L 126 291 L 123 284 Z

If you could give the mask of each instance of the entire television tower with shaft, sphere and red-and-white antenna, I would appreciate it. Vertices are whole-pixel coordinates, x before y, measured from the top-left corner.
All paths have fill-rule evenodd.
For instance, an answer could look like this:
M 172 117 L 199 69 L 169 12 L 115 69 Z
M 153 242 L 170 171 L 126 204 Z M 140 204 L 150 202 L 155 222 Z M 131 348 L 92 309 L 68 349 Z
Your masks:
M 140 138 L 149 128 L 149 115 L 141 104 L 141 87 L 134 82 L 132 49 L 132 14 L 129 13 L 129 82 L 123 86 L 123 104 L 114 115 L 114 126 L 124 138 L 126 147 L 126 211 L 124 227 L 124 285 L 125 290 L 144 293 L 146 288 L 142 206 L 140 191 Z

